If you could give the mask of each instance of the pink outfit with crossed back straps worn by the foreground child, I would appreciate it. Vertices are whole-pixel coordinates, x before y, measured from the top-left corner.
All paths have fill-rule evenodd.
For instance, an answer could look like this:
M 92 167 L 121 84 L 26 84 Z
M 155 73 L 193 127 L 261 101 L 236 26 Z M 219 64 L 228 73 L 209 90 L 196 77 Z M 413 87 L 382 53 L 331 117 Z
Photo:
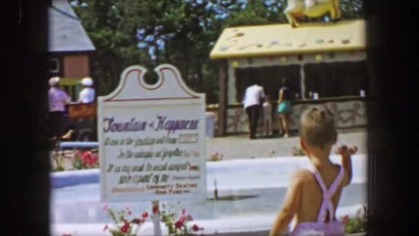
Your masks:
M 330 188 L 327 189 L 325 182 L 320 177 L 318 170 L 311 165 L 309 170 L 316 177 L 320 188 L 323 191 L 323 202 L 320 206 L 318 212 L 317 222 L 303 222 L 297 224 L 294 230 L 292 230 L 291 236 L 302 236 L 302 235 L 311 235 L 311 236 L 341 236 L 345 235 L 345 230 L 340 221 L 334 219 L 334 207 L 331 202 L 331 197 L 334 195 L 336 188 L 338 188 L 340 182 L 343 178 L 343 168 L 340 166 L 339 174 L 336 179 L 331 184 Z M 329 211 L 329 222 L 325 222 L 326 214 Z

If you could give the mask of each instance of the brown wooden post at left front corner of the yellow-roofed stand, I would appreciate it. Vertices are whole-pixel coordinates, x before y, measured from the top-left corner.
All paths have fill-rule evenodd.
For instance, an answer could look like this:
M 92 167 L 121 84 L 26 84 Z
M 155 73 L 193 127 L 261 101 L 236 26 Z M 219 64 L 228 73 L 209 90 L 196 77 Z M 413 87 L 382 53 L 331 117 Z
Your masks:
M 218 95 L 218 137 L 225 135 L 227 130 L 227 61 L 223 59 L 219 67 Z

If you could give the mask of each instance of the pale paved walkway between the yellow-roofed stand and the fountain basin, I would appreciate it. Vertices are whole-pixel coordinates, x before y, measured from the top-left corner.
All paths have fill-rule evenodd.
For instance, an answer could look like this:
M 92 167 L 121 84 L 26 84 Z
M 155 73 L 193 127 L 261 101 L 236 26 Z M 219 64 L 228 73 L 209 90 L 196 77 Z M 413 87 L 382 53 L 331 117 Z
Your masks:
M 237 135 L 207 139 L 207 157 L 223 155 L 223 160 L 254 159 L 263 157 L 289 157 L 292 147 L 299 147 L 299 137 L 273 137 L 252 139 L 248 135 Z M 338 142 L 358 146 L 358 154 L 367 154 L 367 132 L 365 130 L 340 131 Z

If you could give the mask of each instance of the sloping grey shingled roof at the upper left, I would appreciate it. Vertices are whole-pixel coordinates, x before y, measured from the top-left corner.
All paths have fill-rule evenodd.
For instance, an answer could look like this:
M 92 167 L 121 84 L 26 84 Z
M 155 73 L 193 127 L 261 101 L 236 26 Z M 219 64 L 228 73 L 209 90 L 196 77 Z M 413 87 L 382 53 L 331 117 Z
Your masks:
M 49 52 L 86 52 L 96 50 L 79 17 L 67 0 L 53 0 L 48 9 Z

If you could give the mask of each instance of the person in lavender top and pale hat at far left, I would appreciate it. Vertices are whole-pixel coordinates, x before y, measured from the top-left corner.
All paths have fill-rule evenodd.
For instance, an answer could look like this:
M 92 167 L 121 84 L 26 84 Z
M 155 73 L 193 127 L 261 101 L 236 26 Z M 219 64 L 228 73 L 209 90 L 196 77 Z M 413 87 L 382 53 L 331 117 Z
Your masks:
M 63 90 L 59 89 L 59 77 L 52 77 L 50 83 L 50 90 L 48 90 L 49 113 L 48 119 L 50 121 L 50 131 L 52 137 L 59 138 L 63 135 L 65 105 L 69 104 L 71 99 Z

